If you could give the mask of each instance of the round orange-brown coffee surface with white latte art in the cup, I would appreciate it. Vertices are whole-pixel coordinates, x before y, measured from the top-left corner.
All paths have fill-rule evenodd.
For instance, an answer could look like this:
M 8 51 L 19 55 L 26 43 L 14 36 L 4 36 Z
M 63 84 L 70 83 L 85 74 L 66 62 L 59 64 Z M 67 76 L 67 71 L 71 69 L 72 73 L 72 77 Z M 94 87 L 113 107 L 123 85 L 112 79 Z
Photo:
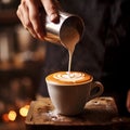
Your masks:
M 54 84 L 74 86 L 92 81 L 92 76 L 81 72 L 57 72 L 49 75 L 46 80 Z

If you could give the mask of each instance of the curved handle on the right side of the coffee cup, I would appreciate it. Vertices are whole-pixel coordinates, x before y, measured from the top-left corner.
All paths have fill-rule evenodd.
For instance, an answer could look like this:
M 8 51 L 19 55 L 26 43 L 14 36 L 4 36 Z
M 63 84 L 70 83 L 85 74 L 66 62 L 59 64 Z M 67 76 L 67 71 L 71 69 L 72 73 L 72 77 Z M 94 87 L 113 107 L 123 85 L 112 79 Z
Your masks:
M 96 92 L 94 92 L 94 90 L 96 90 Z M 100 81 L 91 82 L 90 98 L 88 100 L 92 100 L 94 98 L 100 96 L 103 93 L 103 91 L 104 91 L 104 87 Z

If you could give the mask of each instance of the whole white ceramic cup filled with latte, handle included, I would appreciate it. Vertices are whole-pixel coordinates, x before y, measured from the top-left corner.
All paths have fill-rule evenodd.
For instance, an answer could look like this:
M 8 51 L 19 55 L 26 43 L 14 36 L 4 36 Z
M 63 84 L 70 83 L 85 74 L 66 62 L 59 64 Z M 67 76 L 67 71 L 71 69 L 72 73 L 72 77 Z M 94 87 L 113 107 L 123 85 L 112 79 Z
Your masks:
M 86 103 L 104 90 L 100 81 L 93 81 L 91 75 L 82 72 L 53 73 L 46 77 L 46 81 L 55 112 L 65 116 L 82 113 Z

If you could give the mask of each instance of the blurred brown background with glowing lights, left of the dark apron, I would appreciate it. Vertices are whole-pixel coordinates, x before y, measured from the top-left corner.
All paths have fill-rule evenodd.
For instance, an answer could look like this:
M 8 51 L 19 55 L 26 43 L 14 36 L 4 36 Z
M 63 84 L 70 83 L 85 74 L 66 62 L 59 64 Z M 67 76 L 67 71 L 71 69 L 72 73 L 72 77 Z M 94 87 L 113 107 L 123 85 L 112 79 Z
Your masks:
M 0 0 L 0 130 L 24 130 L 40 82 L 46 46 L 23 28 L 20 0 Z

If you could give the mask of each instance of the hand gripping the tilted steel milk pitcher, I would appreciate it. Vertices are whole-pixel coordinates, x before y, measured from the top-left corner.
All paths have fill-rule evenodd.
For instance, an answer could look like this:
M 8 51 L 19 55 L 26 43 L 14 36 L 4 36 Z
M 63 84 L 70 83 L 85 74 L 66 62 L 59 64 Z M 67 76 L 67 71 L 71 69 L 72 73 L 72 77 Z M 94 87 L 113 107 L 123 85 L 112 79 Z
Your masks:
M 44 40 L 46 29 L 43 17 L 46 17 L 46 13 L 43 13 L 42 15 L 44 16 L 41 17 L 41 8 L 44 9 L 51 22 L 58 22 L 58 4 L 56 0 L 21 0 L 16 14 L 23 26 L 35 38 Z

